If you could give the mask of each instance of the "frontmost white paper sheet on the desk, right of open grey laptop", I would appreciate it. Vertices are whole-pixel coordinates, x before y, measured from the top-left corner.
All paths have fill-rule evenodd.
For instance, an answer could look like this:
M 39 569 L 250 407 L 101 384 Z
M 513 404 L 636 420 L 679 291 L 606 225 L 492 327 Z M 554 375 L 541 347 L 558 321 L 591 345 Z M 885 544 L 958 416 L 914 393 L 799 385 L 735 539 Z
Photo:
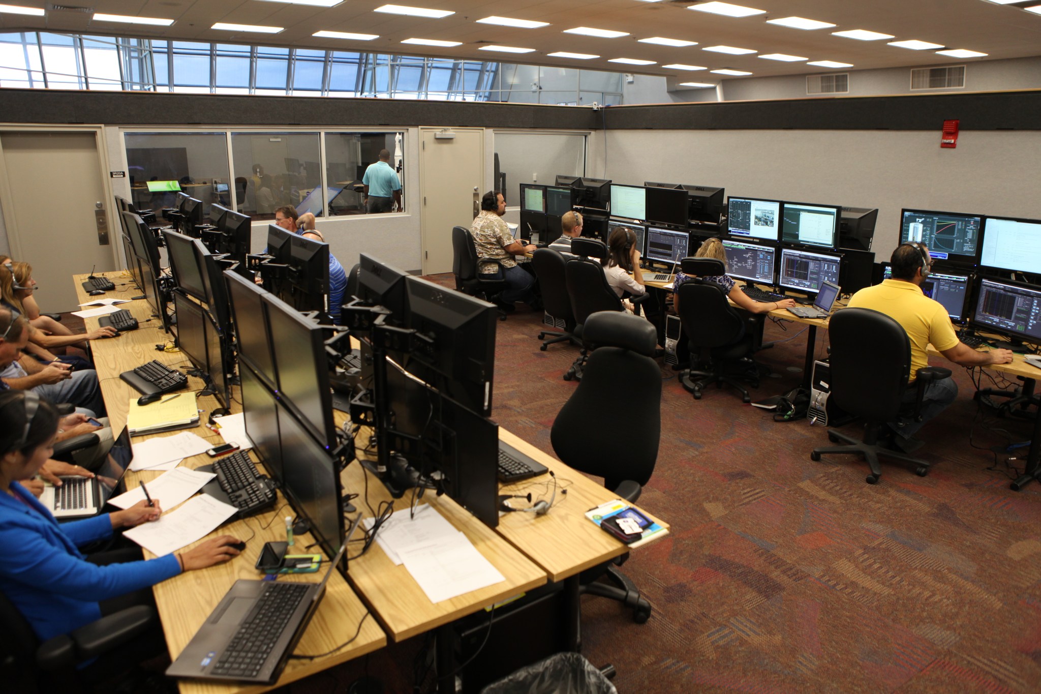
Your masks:
M 431 602 L 506 581 L 462 533 L 454 541 L 413 545 L 401 558 Z

